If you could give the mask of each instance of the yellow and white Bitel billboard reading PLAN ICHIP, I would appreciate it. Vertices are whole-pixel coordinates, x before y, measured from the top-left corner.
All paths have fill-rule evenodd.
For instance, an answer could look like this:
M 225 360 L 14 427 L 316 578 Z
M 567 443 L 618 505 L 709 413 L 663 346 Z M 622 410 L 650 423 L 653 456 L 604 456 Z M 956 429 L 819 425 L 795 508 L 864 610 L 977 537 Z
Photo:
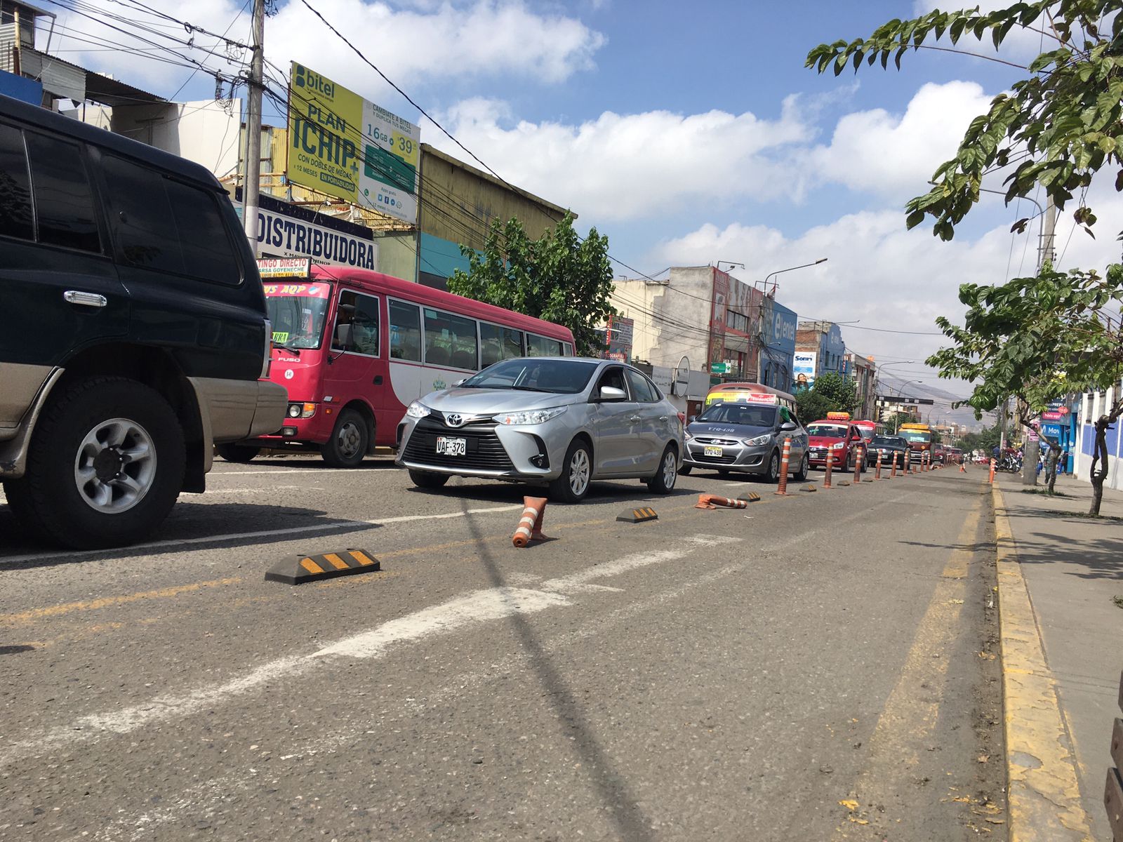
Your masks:
M 412 122 L 292 63 L 287 177 L 293 184 L 416 222 L 420 137 Z

